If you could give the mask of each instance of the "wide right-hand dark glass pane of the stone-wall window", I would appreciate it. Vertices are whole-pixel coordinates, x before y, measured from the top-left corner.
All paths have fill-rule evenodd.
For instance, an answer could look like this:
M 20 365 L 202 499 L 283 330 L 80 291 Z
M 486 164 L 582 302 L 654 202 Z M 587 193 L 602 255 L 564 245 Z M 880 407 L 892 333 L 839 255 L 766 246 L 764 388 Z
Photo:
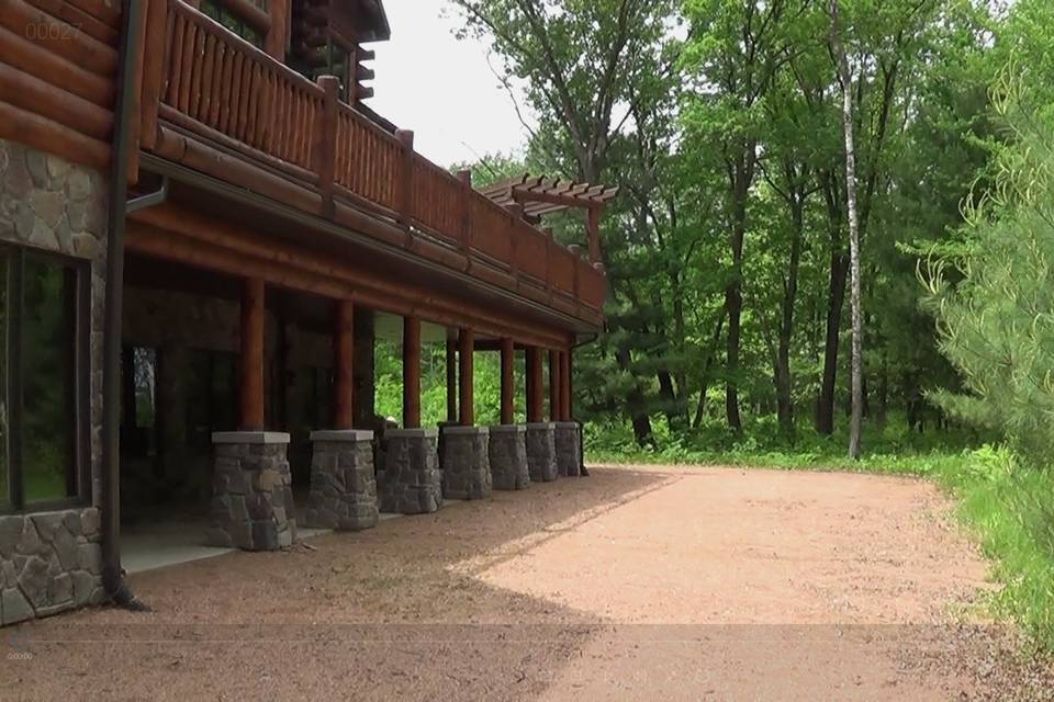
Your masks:
M 22 316 L 25 502 L 72 497 L 77 272 L 26 256 Z

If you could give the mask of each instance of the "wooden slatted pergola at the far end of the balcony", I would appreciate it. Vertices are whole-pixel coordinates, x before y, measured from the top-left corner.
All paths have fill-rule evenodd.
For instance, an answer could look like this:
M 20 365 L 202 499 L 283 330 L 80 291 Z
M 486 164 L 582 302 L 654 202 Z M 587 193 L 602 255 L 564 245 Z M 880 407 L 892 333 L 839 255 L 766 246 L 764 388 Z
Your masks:
M 524 173 L 482 188 L 480 193 L 507 210 L 522 208 L 523 216 L 534 220 L 563 210 L 585 210 L 590 261 L 601 262 L 601 213 L 618 188 Z

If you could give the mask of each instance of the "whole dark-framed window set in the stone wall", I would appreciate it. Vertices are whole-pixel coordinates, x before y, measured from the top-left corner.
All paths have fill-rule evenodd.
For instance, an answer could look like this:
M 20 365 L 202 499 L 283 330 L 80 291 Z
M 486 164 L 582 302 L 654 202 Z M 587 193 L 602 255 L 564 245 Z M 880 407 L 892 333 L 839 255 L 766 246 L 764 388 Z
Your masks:
M 0 505 L 83 497 L 87 263 L 0 248 Z

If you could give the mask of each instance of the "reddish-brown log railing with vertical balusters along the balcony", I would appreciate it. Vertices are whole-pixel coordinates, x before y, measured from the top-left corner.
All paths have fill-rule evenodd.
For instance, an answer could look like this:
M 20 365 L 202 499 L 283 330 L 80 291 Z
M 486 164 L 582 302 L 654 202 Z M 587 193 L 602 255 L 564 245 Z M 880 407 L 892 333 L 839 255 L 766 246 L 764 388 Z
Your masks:
M 350 203 L 480 256 L 517 285 L 602 307 L 599 270 L 339 102 L 334 79 L 311 82 L 183 0 L 148 1 L 145 46 L 164 58 L 144 70 L 139 91 L 159 97 L 143 105 L 146 148 L 158 121 L 170 123 L 317 191 L 323 213 Z

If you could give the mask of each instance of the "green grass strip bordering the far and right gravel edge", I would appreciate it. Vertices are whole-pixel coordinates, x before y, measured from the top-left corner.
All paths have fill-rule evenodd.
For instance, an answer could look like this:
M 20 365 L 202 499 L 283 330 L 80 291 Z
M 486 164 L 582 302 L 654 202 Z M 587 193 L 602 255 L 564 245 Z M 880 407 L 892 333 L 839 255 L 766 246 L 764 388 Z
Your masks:
M 842 434 L 803 433 L 795 442 L 759 422 L 743 437 L 705 429 L 673 438 L 659 426 L 659 449 L 641 450 L 627 427 L 587 426 L 593 463 L 721 464 L 784 469 L 829 469 L 929 478 L 956 500 L 960 520 L 976 535 L 1000 584 L 988 600 L 998 618 L 1017 622 L 1036 647 L 1054 653 L 1054 472 L 963 431 L 924 434 L 890 422 L 870 427 L 864 455 L 846 455 Z

